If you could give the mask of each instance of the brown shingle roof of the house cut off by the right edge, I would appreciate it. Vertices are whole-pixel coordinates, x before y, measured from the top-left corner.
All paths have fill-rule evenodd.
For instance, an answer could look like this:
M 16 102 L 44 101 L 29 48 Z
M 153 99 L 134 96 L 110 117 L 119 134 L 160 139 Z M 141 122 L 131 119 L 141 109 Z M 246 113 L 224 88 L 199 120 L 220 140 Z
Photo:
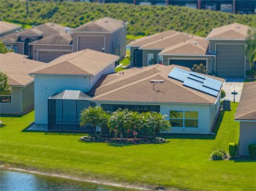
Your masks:
M 256 120 L 256 82 L 244 84 L 235 119 Z

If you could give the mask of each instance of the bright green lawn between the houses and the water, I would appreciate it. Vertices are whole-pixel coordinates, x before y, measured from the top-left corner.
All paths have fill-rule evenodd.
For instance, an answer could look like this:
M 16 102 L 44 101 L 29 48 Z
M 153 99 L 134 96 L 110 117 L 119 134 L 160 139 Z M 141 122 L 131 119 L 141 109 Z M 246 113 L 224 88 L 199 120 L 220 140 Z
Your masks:
M 2 164 L 77 177 L 191 190 L 256 190 L 256 161 L 210 161 L 214 149 L 238 142 L 239 123 L 221 112 L 214 135 L 164 136 L 165 144 L 85 143 L 81 134 L 28 132 L 34 112 L 3 116 Z

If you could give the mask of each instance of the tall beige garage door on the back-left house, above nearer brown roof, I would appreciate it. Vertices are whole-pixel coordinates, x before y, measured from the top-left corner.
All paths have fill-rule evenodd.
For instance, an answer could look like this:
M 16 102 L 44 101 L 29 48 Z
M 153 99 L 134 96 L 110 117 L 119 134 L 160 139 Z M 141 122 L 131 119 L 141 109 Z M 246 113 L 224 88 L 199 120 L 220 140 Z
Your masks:
M 93 49 L 94 51 L 102 52 L 102 47 L 104 46 L 104 37 L 78 37 L 78 50 L 82 49 Z

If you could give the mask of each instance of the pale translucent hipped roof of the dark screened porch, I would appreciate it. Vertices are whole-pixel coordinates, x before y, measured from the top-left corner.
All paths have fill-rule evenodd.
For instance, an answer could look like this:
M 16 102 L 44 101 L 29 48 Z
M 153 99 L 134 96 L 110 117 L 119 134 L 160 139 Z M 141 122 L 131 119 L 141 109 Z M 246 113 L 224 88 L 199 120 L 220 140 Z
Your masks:
M 68 100 L 91 100 L 90 96 L 87 96 L 80 90 L 63 90 L 59 94 L 55 94 L 48 99 L 68 99 Z

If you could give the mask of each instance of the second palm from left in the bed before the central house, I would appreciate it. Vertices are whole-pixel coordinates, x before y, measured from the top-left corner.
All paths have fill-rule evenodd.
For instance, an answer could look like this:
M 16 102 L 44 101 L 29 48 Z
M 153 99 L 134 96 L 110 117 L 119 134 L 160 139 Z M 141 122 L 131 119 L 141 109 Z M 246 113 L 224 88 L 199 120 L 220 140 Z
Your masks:
M 123 131 L 126 131 L 131 123 L 130 113 L 127 109 L 122 110 L 119 108 L 115 112 L 111 113 L 109 118 L 108 127 L 110 132 L 115 131 L 119 133 L 121 141 L 123 140 Z

